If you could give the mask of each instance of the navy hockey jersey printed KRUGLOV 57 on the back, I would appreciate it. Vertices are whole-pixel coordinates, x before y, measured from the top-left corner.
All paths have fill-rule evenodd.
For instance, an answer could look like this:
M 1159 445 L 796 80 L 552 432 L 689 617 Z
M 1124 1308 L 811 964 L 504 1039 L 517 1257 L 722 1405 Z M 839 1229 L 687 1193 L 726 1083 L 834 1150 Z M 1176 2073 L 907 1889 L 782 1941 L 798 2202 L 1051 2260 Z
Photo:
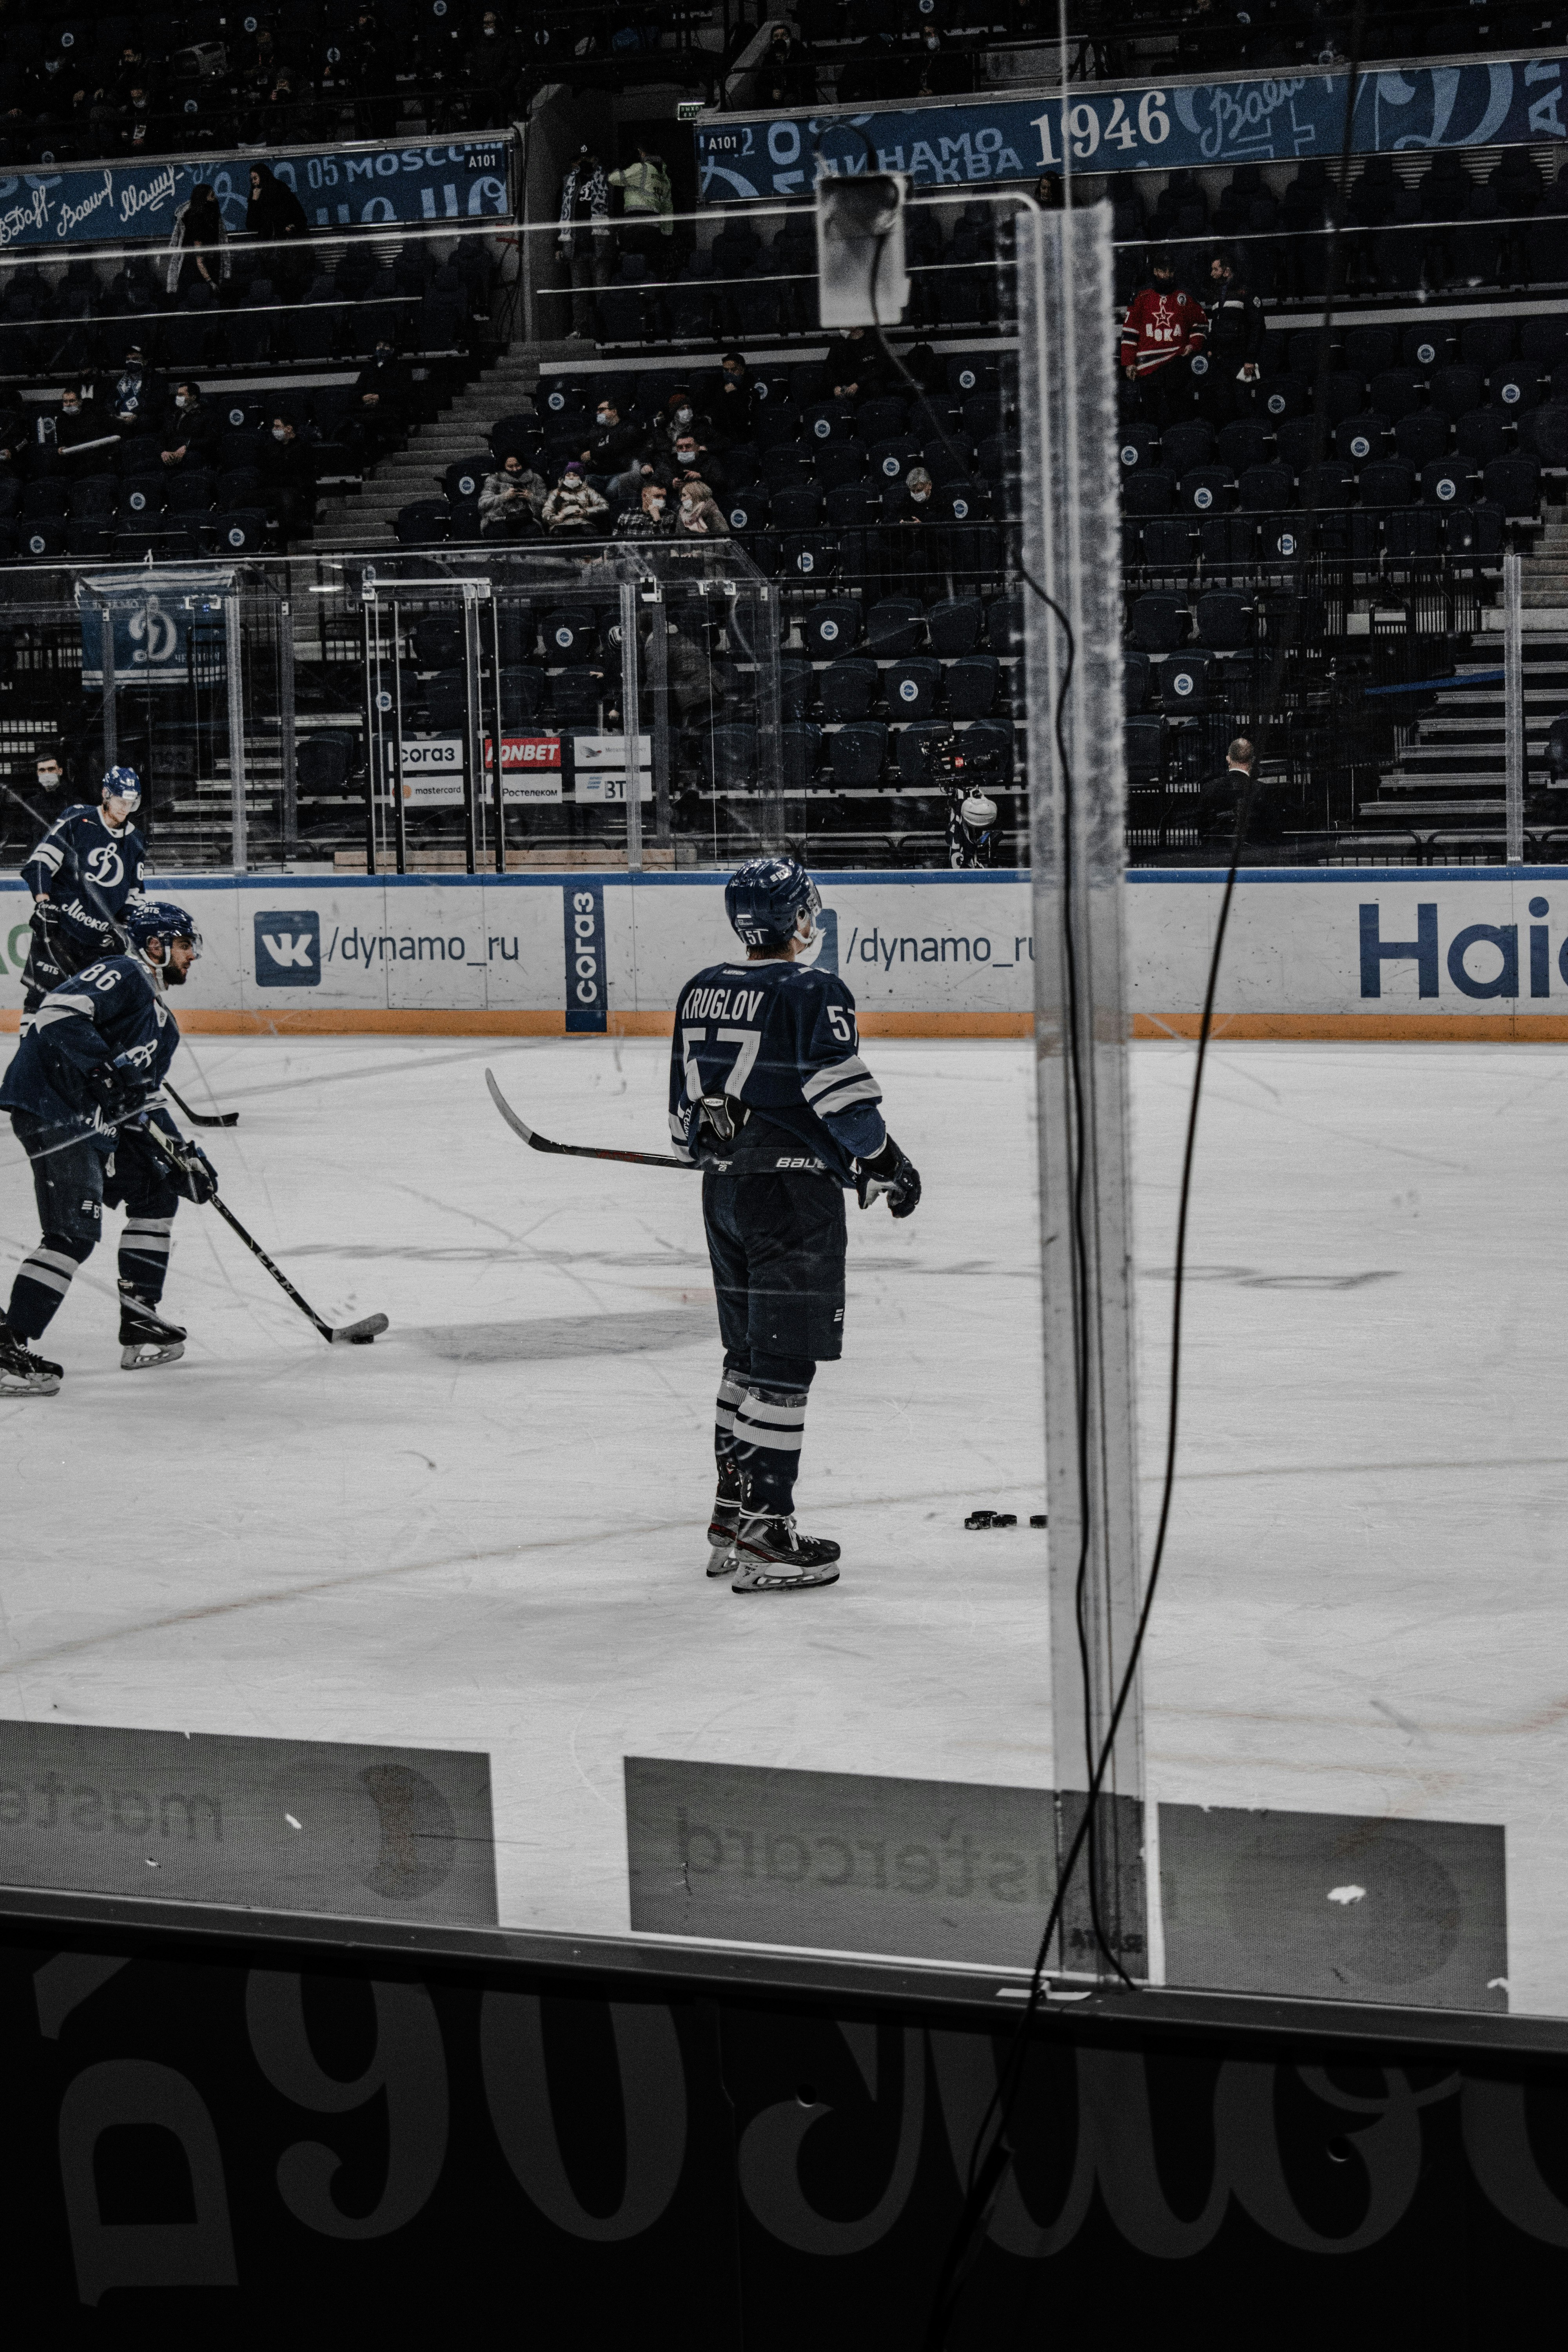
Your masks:
M 670 1042 L 670 1134 L 696 1160 L 698 1103 L 750 1110 L 726 1160 L 738 1176 L 820 1169 L 853 1185 L 886 1143 L 882 1087 L 860 1061 L 856 1000 L 837 971 L 769 960 L 710 964 L 686 981 Z

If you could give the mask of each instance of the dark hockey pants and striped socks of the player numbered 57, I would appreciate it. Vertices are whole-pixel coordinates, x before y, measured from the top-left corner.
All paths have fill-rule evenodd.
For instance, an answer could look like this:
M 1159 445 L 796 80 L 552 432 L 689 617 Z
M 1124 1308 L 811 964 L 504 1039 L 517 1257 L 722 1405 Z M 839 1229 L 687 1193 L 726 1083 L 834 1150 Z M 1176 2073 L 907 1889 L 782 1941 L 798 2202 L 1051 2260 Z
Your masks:
M 703 1225 L 724 1341 L 719 1486 L 788 1517 L 806 1390 L 844 1350 L 844 1192 L 825 1176 L 705 1176 Z

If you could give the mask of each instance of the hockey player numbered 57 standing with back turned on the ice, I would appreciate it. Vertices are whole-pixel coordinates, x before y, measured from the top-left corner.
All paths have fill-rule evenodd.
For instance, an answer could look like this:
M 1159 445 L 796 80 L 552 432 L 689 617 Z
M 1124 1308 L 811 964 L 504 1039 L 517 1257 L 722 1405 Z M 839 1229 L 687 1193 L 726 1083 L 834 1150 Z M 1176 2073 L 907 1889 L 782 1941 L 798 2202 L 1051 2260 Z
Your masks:
M 731 1592 L 837 1581 L 839 1545 L 795 1529 L 795 1472 L 816 1367 L 844 1350 L 844 1192 L 919 1202 L 919 1176 L 882 1122 L 860 1061 L 856 1000 L 799 962 L 820 898 L 795 858 L 752 858 L 724 889 L 745 943 L 686 981 L 675 1009 L 670 1134 L 703 1167 L 719 1298 L 719 1491 L 708 1573 Z

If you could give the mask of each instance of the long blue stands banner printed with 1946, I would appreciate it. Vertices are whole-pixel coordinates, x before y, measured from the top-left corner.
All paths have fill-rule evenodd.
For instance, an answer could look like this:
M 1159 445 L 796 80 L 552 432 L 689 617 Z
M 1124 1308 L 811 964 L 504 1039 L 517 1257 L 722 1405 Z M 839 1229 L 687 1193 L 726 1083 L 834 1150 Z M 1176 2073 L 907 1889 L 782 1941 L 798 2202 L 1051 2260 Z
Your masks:
M 1352 151 L 1563 139 L 1566 59 L 1403 66 L 1356 89 Z M 1067 94 L 1074 172 L 1178 172 L 1340 153 L 1349 75 L 1265 75 Z M 708 205 L 809 195 L 818 176 L 907 172 L 919 188 L 1037 179 L 1063 167 L 1063 99 L 971 99 L 907 113 L 759 115 L 696 132 Z

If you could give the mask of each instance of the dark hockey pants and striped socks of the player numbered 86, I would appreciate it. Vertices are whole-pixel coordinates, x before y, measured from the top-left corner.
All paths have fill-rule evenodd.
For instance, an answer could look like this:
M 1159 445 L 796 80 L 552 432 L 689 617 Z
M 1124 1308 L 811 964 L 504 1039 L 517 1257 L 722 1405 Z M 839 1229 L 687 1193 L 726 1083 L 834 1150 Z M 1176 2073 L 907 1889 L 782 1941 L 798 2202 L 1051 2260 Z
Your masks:
M 71 1129 L 49 1127 L 26 1110 L 12 1110 L 12 1134 L 33 1162 L 33 1192 L 42 1240 L 21 1261 L 12 1284 L 7 1322 L 19 1338 L 42 1338 L 71 1289 L 71 1277 L 99 1244 L 103 1207 L 125 1204 L 120 1235 L 120 1284 L 148 1305 L 162 1298 L 174 1244 L 179 1192 L 158 1155 L 134 1134 L 122 1134 L 106 1157 L 96 1143 Z

